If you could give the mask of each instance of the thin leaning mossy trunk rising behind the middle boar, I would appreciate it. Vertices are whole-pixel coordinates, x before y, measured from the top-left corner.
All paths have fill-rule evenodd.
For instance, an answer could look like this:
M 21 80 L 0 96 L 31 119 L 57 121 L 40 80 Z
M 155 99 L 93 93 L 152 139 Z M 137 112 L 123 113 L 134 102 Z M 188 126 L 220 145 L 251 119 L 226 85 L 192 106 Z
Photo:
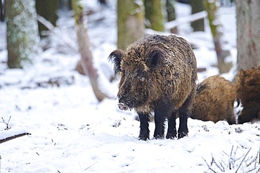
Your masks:
M 230 51 L 223 50 L 221 45 L 221 32 L 219 32 L 218 20 L 218 10 L 217 5 L 218 0 L 203 0 L 204 8 L 207 11 L 207 18 L 209 20 L 209 27 L 212 31 L 212 37 L 214 41 L 214 47 L 216 51 L 216 58 L 218 60 L 218 68 L 220 73 L 228 72 L 232 67 L 232 63 L 226 63 L 225 58 L 230 56 Z

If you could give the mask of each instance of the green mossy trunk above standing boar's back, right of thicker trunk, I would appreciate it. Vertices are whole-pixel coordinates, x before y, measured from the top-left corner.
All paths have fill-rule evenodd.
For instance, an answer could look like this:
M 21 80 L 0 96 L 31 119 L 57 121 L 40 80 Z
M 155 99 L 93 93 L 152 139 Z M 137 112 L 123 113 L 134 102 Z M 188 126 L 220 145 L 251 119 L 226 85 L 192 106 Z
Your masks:
M 156 30 L 164 31 L 164 16 L 162 15 L 161 0 L 144 0 L 145 18 L 148 20 L 147 27 Z

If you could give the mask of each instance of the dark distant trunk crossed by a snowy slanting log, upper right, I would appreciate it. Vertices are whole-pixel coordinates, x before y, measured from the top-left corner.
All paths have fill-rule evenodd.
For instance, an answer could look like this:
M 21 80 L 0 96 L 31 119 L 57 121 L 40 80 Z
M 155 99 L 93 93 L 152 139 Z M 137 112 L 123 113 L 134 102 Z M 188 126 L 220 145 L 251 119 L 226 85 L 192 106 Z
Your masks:
M 190 6 L 192 14 L 204 11 L 203 2 L 201 0 L 190 1 Z M 204 31 L 204 18 L 193 21 L 191 27 L 193 27 L 193 31 Z

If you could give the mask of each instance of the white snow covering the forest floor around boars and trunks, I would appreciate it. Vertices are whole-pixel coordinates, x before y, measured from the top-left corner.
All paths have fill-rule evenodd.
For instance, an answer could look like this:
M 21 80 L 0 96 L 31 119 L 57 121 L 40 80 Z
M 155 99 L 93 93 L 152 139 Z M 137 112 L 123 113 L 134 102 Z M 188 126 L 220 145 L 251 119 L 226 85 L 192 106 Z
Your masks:
M 32 67 L 8 70 L 1 63 L 0 117 L 8 121 L 11 116 L 8 124 L 11 129 L 4 130 L 6 124 L 0 120 L 0 139 L 22 132 L 32 134 L 0 144 L 1 172 L 210 172 L 204 160 L 210 164 L 212 157 L 217 162 L 228 162 L 230 158 L 242 157 L 249 148 L 248 156 L 256 157 L 259 122 L 228 125 L 225 121 L 214 124 L 188 119 L 188 137 L 179 140 L 152 139 L 155 124 L 150 122 L 150 140 L 138 141 L 140 124 L 136 113 L 119 110 L 114 99 L 119 79 L 108 82 L 112 65 L 107 58 L 116 49 L 115 1 L 109 2 L 103 11 L 95 0 L 84 1 L 84 6 L 95 11 L 88 18 L 91 51 L 99 68 L 100 85 L 111 98 L 98 103 L 88 77 L 74 71 L 79 54 L 67 45 L 74 47 L 77 40 L 74 19 L 69 16 L 60 18 L 60 36 L 50 33 L 52 39 L 46 41 L 49 48 Z M 183 4 L 176 6 L 182 13 L 189 9 Z M 231 51 L 230 61 L 235 63 L 235 7 L 222 7 L 220 14 L 223 40 Z M 0 28 L 3 25 L 0 23 Z M 183 27 L 187 28 L 180 26 Z M 216 75 L 216 55 L 209 29 L 183 31 L 181 37 L 197 45 L 194 51 L 198 68 L 207 68 L 198 74 L 198 81 Z M 0 62 L 6 62 L 6 55 L 1 46 Z M 235 67 L 223 76 L 233 79 Z M 232 147 L 238 147 L 237 153 L 228 158 L 223 152 L 229 154 Z

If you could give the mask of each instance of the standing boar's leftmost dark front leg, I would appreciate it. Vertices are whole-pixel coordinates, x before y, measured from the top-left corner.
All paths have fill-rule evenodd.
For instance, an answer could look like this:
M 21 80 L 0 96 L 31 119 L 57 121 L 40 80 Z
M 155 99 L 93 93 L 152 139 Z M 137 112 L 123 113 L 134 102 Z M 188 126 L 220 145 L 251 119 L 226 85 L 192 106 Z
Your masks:
M 149 139 L 149 115 L 145 113 L 138 113 L 140 120 L 140 134 L 139 139 L 146 141 Z

